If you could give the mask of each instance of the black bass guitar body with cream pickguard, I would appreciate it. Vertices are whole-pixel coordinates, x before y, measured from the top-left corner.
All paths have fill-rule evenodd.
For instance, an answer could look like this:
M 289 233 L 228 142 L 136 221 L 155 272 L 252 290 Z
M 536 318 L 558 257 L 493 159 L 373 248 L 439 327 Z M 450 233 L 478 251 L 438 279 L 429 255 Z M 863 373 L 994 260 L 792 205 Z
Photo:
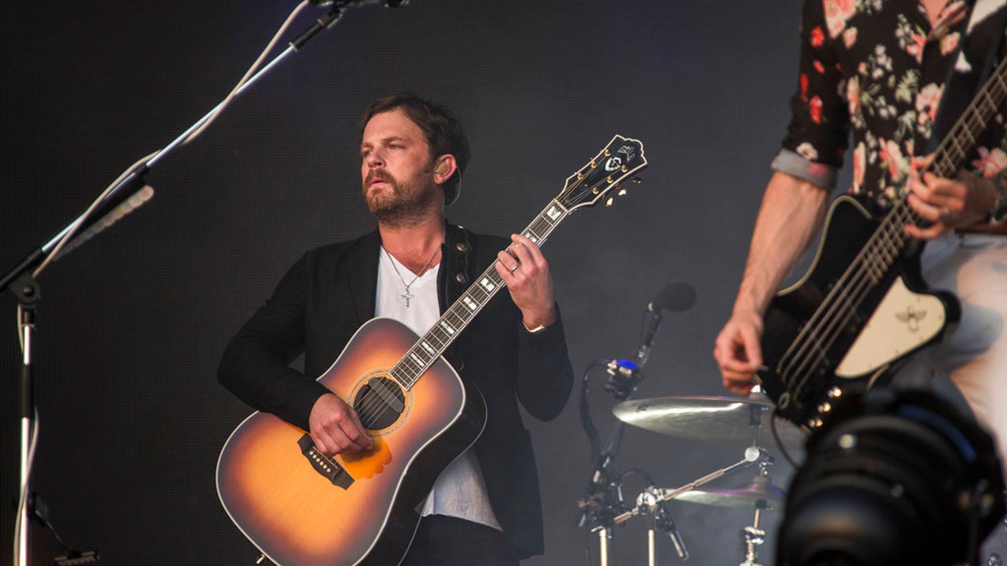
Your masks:
M 824 404 L 890 376 L 900 361 L 940 340 L 959 318 L 954 295 L 926 291 L 919 274 L 921 247 L 902 254 L 876 283 L 871 281 L 873 288 L 863 299 L 851 301 L 856 304 L 851 312 L 833 315 L 835 303 L 842 304 L 847 293 L 869 286 L 843 277 L 877 228 L 855 199 L 837 198 L 811 269 L 781 290 L 766 312 L 766 369 L 756 377 L 779 415 L 798 425 L 816 426 L 828 411 Z M 810 324 L 820 329 L 809 331 Z

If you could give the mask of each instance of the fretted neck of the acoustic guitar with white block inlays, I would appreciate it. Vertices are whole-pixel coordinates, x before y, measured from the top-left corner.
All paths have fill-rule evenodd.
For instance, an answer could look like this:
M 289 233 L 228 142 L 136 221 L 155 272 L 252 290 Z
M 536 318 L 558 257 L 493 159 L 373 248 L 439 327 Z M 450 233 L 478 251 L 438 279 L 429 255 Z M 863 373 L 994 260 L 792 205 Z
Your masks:
M 528 225 L 522 235 L 541 247 L 546 243 L 553 230 L 569 214 L 569 209 L 560 204 L 558 200 L 553 199 L 532 221 L 532 224 Z M 458 334 L 482 310 L 482 307 L 493 298 L 501 287 L 506 286 L 499 274 L 496 273 L 497 263 L 498 260 L 494 260 L 482 272 L 482 275 L 458 297 L 458 300 L 444 311 L 444 314 L 420 338 L 420 341 L 416 342 L 389 372 L 403 388 L 411 388 L 420 379 L 420 376 L 447 350 Z

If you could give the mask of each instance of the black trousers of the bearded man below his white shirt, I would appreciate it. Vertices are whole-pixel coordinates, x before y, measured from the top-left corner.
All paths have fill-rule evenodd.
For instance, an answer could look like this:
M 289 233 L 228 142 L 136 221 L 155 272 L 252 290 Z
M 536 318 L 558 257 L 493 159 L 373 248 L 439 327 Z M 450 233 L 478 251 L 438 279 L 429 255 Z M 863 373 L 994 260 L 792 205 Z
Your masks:
M 503 533 L 444 515 L 420 520 L 413 544 L 400 566 L 518 566 Z

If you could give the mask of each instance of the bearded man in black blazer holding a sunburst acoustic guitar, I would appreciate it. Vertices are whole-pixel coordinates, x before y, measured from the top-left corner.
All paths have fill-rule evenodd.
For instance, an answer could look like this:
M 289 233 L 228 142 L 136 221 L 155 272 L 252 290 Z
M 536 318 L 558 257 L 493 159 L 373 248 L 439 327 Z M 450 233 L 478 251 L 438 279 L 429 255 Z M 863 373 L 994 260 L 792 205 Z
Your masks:
M 543 552 L 537 472 L 518 402 L 536 418 L 553 419 L 573 383 L 549 265 L 524 236 L 507 241 L 447 224 L 445 205 L 457 196 L 470 155 L 447 109 L 402 94 L 372 104 L 363 124 L 363 195 L 378 229 L 305 254 L 231 341 L 220 381 L 256 409 L 309 431 L 323 461 L 378 451 L 380 435 L 315 378 L 376 315 L 422 335 L 498 260 L 495 269 L 510 293 L 496 295 L 445 355 L 462 380 L 481 391 L 485 428 L 459 457 L 444 462 L 450 465 L 439 477 L 439 470 L 413 470 L 436 482 L 418 494 L 423 519 L 415 537 L 405 535 L 412 545 L 402 564 L 516 565 Z M 302 351 L 304 374 L 289 367 Z M 408 408 L 408 396 L 406 410 L 419 416 L 419 409 Z M 384 513 L 340 511 L 343 521 Z M 368 563 L 398 563 L 394 553 L 369 552 Z

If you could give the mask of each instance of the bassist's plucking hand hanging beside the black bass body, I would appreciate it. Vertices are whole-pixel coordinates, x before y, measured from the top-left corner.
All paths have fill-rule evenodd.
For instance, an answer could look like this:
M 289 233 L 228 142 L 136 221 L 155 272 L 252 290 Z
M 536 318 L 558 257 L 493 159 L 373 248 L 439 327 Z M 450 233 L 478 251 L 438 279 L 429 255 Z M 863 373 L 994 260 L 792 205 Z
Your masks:
M 724 387 L 747 396 L 754 387 L 752 378 L 762 365 L 762 317 L 755 311 L 737 311 L 731 315 L 713 348 Z

